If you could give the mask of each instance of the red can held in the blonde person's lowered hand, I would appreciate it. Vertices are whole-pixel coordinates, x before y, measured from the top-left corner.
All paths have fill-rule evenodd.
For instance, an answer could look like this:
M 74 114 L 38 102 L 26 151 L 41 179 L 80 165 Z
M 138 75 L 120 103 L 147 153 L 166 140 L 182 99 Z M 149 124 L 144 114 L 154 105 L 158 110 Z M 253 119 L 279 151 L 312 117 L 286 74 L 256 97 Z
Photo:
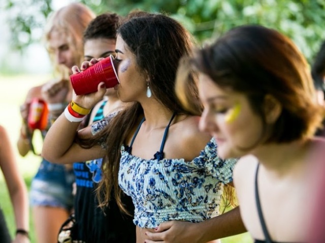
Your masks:
M 47 127 L 49 110 L 44 100 L 34 98 L 29 105 L 27 124 L 30 129 L 45 130 Z

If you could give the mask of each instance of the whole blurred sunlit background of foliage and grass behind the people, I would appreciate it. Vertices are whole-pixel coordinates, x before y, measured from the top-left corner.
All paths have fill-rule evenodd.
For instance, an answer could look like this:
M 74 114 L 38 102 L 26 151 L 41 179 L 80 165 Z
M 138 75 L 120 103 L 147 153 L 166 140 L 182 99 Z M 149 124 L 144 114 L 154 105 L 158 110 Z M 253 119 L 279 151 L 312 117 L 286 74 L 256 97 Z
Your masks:
M 41 160 L 31 153 L 26 157 L 18 154 L 19 106 L 31 87 L 45 83 L 52 74 L 41 42 L 46 23 L 44 6 L 47 4 L 48 9 L 55 11 L 71 2 L 86 3 L 97 14 L 109 10 L 125 15 L 134 8 L 167 12 L 190 30 L 198 45 L 210 42 L 237 25 L 263 24 L 292 38 L 310 64 L 325 39 L 325 0 L 0 0 L 0 124 L 10 134 L 19 170 L 27 186 Z M 37 24 L 31 25 L 30 21 Z M 40 151 L 42 142 L 38 134 L 35 144 L 36 150 Z M 13 235 L 13 211 L 1 173 L 0 188 L 0 207 Z M 35 242 L 32 221 L 30 227 L 31 242 Z M 223 240 L 223 243 L 234 242 L 250 243 L 252 240 L 247 233 Z

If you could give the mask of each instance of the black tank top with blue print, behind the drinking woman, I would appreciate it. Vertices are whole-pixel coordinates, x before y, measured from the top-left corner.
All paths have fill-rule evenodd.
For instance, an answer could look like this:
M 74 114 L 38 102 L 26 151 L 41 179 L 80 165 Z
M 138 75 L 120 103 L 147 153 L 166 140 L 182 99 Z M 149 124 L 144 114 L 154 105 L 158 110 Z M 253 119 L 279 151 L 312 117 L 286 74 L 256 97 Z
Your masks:
M 96 112 L 93 121 L 105 117 L 106 101 Z M 91 163 L 75 163 L 77 192 L 75 196 L 75 217 L 78 239 L 86 243 L 135 243 L 136 226 L 133 217 L 122 213 L 112 191 L 109 206 L 101 209 L 96 196 L 102 171 Z M 122 193 L 122 203 L 129 213 L 134 214 L 132 198 Z

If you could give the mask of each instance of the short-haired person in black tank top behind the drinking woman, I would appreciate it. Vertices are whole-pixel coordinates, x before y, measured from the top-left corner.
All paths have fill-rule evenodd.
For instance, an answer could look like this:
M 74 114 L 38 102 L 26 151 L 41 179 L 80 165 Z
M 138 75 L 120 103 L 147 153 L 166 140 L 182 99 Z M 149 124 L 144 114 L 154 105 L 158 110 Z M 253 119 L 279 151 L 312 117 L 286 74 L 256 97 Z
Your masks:
M 121 17 L 115 13 L 105 13 L 89 23 L 83 34 L 85 61 L 116 55 L 116 25 L 120 19 Z M 125 104 L 117 97 L 116 90 L 107 89 L 104 99 L 93 107 L 88 119 L 84 121 L 92 124 L 122 109 Z M 99 207 L 95 195 L 98 183 L 102 179 L 101 164 L 102 158 L 73 164 L 77 190 L 74 201 L 75 235 L 72 238 L 88 243 L 134 242 L 136 228 L 132 222 L 133 217 L 121 213 L 114 199 L 110 200 L 106 207 L 102 209 Z M 134 206 L 131 197 L 123 197 L 122 203 L 133 215 Z

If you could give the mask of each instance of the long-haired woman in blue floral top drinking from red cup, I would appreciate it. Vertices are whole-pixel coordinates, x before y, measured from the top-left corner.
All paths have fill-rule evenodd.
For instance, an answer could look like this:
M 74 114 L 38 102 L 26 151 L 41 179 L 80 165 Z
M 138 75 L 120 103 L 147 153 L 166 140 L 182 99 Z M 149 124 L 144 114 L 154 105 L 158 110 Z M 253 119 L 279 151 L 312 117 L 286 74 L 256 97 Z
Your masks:
M 121 101 L 133 103 L 115 117 L 93 124 L 93 136 L 89 129 L 78 131 L 77 140 L 79 122 L 73 120 L 82 116 L 72 118 L 67 107 L 45 139 L 42 153 L 56 163 L 105 156 L 98 192 L 101 205 L 113 199 L 114 191 L 125 212 L 121 196 L 132 197 L 138 243 L 147 241 L 146 232 L 164 221 L 214 218 L 223 187 L 229 188 L 232 182 L 237 160 L 218 157 L 215 140 L 198 129 L 201 107 L 188 112 L 176 97 L 178 62 L 191 50 L 189 33 L 168 16 L 141 13 L 126 18 L 117 29 L 114 62 L 120 83 L 114 88 Z M 83 63 L 81 69 L 93 63 Z M 75 67 L 74 72 L 78 71 Z M 198 96 L 194 83 L 188 90 L 192 97 Z M 100 83 L 98 92 L 75 96 L 73 101 L 87 110 L 105 92 L 105 84 Z M 220 216 L 224 223 L 220 232 L 228 227 L 228 234 L 204 235 L 202 242 L 245 231 L 238 216 L 238 208 Z

